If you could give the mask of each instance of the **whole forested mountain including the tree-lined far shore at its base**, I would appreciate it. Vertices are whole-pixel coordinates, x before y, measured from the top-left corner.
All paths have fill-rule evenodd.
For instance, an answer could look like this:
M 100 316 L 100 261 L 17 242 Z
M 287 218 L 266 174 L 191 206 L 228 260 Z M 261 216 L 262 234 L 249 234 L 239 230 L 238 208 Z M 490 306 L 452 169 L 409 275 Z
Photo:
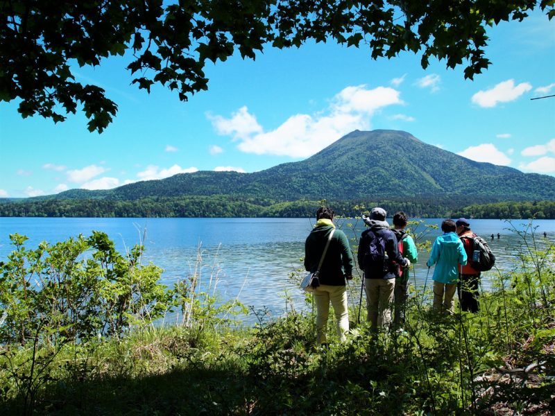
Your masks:
M 407 132 L 357 130 L 306 160 L 265 171 L 181 173 L 106 191 L 0 200 L 0 216 L 306 217 L 322 199 L 343 216 L 379 204 L 418 218 L 555 218 L 555 177 L 474 162 Z

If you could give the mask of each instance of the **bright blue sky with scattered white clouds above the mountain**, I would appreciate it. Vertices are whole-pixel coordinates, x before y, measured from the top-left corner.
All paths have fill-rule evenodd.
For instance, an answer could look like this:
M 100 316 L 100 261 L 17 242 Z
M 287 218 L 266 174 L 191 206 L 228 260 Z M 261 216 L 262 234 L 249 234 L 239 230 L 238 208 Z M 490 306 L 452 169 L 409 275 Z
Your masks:
M 555 176 L 555 20 L 540 12 L 488 31 L 493 63 L 474 80 L 402 53 L 333 42 L 266 49 L 209 64 L 210 82 L 181 102 L 130 85 L 128 58 L 74 69 L 118 105 L 99 135 L 83 114 L 55 124 L 0 103 L 0 198 L 110 189 L 194 171 L 255 172 L 306 159 L 353 130 L 393 129 L 478 162 Z M 411 155 L 407 155 L 411 157 Z

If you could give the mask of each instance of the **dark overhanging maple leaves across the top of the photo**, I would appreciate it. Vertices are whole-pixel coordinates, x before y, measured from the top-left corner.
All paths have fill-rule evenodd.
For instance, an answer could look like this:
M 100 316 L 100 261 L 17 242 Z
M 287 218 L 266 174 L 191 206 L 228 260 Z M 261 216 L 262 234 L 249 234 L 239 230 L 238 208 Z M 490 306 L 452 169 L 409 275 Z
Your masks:
M 207 89 L 207 62 L 237 52 L 255 59 L 265 47 L 309 40 L 365 46 L 374 59 L 421 53 L 423 68 L 438 58 L 472 78 L 490 64 L 486 26 L 536 7 L 555 15 L 553 0 L 4 0 L 0 100 L 19 100 L 23 117 L 55 122 L 80 106 L 89 130 L 102 132 L 117 105 L 98 85 L 77 82 L 74 64 L 128 53 L 133 84 L 161 84 L 187 101 Z

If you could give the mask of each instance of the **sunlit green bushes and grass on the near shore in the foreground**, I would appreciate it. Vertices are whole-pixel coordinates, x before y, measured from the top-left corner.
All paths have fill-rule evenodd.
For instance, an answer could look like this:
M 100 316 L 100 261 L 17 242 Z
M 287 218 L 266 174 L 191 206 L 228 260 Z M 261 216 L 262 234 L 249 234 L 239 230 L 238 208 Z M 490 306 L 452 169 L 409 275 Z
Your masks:
M 165 288 L 140 245 L 120 254 L 94 232 L 28 249 L 13 235 L 0 263 L 0 413 L 547 415 L 555 248 L 534 230 L 513 229 L 514 267 L 490 272 L 479 313 L 436 315 L 432 285 L 413 288 L 405 333 L 371 336 L 352 322 L 329 350 L 314 347 L 314 313 L 287 299 L 282 318 L 250 307 L 257 324 L 238 325 L 246 308 L 217 301 L 216 265 L 201 251 Z

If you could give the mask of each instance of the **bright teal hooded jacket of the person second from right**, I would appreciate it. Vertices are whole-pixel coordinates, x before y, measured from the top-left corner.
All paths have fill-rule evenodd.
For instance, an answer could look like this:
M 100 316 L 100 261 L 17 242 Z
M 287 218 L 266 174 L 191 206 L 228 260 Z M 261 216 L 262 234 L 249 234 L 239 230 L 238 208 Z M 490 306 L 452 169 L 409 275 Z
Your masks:
M 443 236 L 438 236 L 429 259 L 426 262 L 428 267 L 434 266 L 434 281 L 445 284 L 454 284 L 459 280 L 459 263 L 466 264 L 466 252 L 463 242 L 454 232 L 446 232 Z

